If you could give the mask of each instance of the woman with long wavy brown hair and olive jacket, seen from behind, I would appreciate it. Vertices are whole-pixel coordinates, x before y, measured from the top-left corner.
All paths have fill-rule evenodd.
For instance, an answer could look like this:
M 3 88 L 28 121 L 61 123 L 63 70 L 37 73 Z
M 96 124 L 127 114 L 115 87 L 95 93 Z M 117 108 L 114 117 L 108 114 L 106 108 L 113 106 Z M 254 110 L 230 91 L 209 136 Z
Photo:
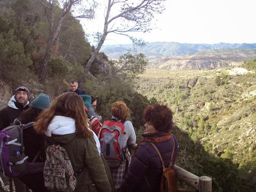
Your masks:
M 37 119 L 35 130 L 45 133 L 47 145 L 66 150 L 76 175 L 78 191 L 111 191 L 93 132 L 88 129 L 83 99 L 73 92 L 57 97 Z

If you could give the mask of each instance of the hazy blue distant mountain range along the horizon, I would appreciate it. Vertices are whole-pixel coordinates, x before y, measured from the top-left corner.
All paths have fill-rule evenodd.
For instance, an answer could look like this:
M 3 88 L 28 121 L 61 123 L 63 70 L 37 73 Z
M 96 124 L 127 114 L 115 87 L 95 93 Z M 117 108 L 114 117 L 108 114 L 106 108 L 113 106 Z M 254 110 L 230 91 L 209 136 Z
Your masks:
M 117 59 L 124 53 L 132 49 L 132 44 L 106 45 L 100 51 L 104 52 L 108 58 Z M 178 42 L 151 42 L 146 46 L 137 47 L 137 52 L 144 53 L 149 60 L 159 58 L 180 56 L 187 53 L 197 53 L 204 50 L 226 50 L 226 49 L 256 49 L 256 43 L 215 43 L 215 44 L 192 44 Z

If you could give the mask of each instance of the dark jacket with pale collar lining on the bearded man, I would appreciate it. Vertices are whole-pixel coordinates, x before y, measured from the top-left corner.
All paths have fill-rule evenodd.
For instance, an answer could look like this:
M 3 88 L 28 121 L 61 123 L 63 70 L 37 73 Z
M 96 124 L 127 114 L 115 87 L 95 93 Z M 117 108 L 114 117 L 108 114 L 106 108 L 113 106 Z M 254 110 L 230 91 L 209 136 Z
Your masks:
M 0 130 L 6 128 L 20 115 L 21 112 L 28 109 L 29 102 L 25 106 L 18 104 L 15 100 L 15 96 L 11 97 L 7 107 L 0 111 Z

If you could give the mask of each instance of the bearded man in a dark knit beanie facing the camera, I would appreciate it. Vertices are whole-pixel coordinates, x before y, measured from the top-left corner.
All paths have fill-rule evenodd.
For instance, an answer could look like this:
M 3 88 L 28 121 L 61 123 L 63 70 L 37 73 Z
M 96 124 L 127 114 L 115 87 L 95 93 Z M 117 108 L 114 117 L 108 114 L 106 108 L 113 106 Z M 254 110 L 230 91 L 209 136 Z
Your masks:
M 0 111 L 0 130 L 8 127 L 21 112 L 28 109 L 28 100 L 30 100 L 30 91 L 28 91 L 27 87 L 21 86 L 16 88 L 15 95 L 11 97 L 7 107 Z M 26 191 L 26 186 L 20 179 L 15 178 L 13 181 L 15 183 L 16 192 Z M 9 182 L 12 182 L 11 178 L 9 178 Z

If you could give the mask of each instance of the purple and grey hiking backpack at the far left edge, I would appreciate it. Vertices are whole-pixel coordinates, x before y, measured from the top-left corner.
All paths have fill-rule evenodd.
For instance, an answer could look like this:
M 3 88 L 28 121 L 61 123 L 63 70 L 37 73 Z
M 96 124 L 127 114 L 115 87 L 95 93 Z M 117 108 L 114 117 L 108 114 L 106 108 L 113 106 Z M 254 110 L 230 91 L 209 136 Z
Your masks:
M 20 125 L 16 125 L 18 122 Z M 27 173 L 38 173 L 44 170 L 44 163 L 33 163 L 40 151 L 37 152 L 32 163 L 28 163 L 28 156 L 24 153 L 23 130 L 31 128 L 34 122 L 26 125 L 15 120 L 0 131 L 0 171 L 9 178 L 18 178 Z

